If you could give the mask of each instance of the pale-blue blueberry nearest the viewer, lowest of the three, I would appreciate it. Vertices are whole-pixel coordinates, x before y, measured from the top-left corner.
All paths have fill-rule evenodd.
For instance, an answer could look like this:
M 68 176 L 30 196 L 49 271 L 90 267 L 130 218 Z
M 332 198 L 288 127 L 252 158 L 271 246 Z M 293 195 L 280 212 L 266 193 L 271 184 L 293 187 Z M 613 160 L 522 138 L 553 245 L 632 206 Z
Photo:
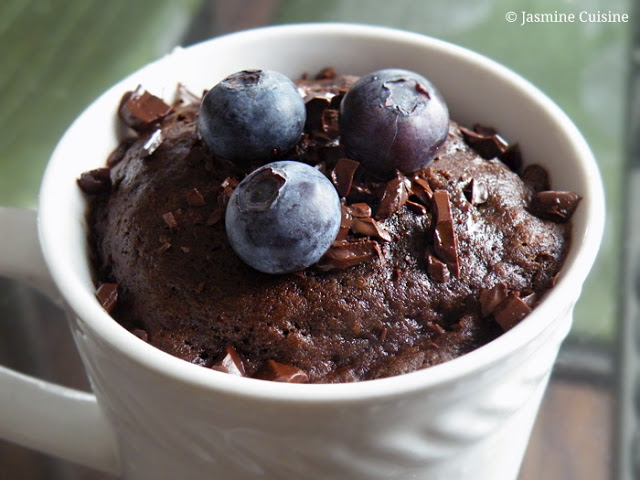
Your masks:
M 338 193 L 307 164 L 280 161 L 251 172 L 235 188 L 225 216 L 233 250 L 264 273 L 289 273 L 314 264 L 340 229 Z

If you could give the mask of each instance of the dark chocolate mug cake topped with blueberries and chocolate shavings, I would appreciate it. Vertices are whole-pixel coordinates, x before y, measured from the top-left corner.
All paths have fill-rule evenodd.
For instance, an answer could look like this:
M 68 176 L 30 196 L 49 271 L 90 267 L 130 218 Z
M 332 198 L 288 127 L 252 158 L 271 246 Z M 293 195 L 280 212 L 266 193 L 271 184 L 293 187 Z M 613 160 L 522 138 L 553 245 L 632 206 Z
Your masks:
M 242 75 L 256 83 L 267 74 Z M 517 144 L 493 128 L 450 120 L 435 87 L 413 72 L 358 79 L 325 69 L 295 86 L 303 111 L 292 100 L 294 140 L 246 157 L 209 138 L 203 116 L 223 101 L 207 100 L 214 89 L 202 98 L 179 85 L 172 104 L 143 87 L 125 94 L 119 112 L 129 135 L 104 168 L 78 179 L 89 201 L 97 296 L 125 328 L 229 374 L 352 382 L 479 348 L 553 287 L 580 197 L 552 190 L 542 167 L 523 167 Z M 377 89 L 389 107 L 382 111 L 395 117 L 364 118 L 358 102 L 375 96 L 367 89 Z M 423 104 L 427 113 L 418 112 Z M 291 173 L 296 168 L 314 173 Z M 327 214 L 334 230 L 307 260 L 298 238 L 273 239 L 284 223 L 291 235 L 322 237 L 319 221 L 307 223 L 326 210 L 314 206 L 311 177 L 314 188 L 330 184 L 336 200 Z M 248 207 L 234 203 L 250 178 L 256 190 L 245 197 L 267 203 L 270 215 L 278 213 L 273 205 L 284 208 L 284 186 L 299 179 L 305 213 L 251 224 Z M 242 221 L 230 227 L 234 209 Z M 249 237 L 242 253 L 238 244 Z M 263 267 L 275 255 L 295 266 Z

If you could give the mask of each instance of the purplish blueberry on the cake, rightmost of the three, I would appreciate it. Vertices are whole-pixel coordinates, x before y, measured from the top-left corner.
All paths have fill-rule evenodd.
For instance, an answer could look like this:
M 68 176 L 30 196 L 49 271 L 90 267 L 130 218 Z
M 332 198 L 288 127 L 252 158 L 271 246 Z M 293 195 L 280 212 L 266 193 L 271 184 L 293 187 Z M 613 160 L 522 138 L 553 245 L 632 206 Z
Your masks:
M 401 69 L 361 77 L 340 104 L 347 155 L 378 175 L 425 167 L 449 132 L 449 111 L 423 76 Z

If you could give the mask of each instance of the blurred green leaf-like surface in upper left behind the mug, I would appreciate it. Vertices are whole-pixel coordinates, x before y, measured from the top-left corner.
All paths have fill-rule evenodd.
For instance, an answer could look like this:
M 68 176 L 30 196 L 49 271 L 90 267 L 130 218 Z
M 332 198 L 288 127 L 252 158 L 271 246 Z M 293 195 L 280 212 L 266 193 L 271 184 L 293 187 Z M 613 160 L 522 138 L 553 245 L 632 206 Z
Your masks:
M 73 119 L 108 86 L 169 51 L 199 4 L 0 2 L 0 205 L 35 205 L 44 166 Z

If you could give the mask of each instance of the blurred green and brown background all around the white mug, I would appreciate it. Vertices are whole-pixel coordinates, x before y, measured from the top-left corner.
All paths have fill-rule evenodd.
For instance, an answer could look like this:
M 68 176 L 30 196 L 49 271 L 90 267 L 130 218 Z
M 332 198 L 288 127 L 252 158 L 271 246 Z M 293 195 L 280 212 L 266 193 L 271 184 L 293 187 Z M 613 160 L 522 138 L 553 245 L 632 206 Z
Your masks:
M 626 207 L 640 200 L 639 11 L 631 0 L 3 0 L 0 205 L 35 208 L 45 164 L 72 120 L 108 86 L 177 45 L 260 25 L 344 21 L 403 28 L 485 54 L 568 113 L 598 159 L 607 195 L 603 248 L 521 480 L 640 478 L 633 235 L 640 226 Z M 576 20 L 523 24 L 524 12 L 573 13 Z M 588 21 L 609 13 L 627 21 Z M 61 313 L 1 277 L 0 363 L 88 388 Z M 0 479 L 22 478 L 108 477 L 0 441 Z

